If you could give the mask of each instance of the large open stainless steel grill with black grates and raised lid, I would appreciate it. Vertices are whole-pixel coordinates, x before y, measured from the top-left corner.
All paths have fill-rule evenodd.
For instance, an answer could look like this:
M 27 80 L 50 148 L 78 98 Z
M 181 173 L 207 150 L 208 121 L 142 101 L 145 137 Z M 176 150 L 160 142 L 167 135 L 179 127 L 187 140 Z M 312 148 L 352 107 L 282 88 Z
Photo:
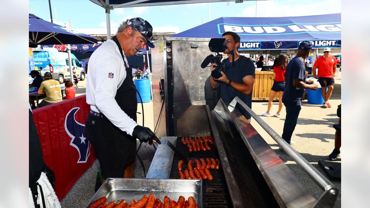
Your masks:
M 220 169 L 210 170 L 213 181 L 203 180 L 202 207 L 319 208 L 333 205 L 336 188 L 330 187 L 330 182 L 308 170 L 311 167 L 305 167 L 304 161 L 293 155 L 308 170 L 308 174 L 322 180 L 318 182 L 321 187 L 329 187 L 322 199 L 316 201 L 252 125 L 246 122 L 239 108 L 235 103 L 226 105 L 222 100 L 212 111 L 208 105 L 192 105 L 177 120 L 177 137 L 161 138 L 171 140 L 188 160 L 219 158 Z M 257 115 L 253 118 L 260 123 Z M 189 152 L 181 142 L 182 137 L 194 139 L 205 135 L 212 135 L 217 149 L 209 145 L 209 151 Z M 279 145 L 286 148 L 285 143 L 279 141 Z M 147 178 L 179 179 L 177 165 L 181 158 L 164 145 L 159 145 L 158 149 Z

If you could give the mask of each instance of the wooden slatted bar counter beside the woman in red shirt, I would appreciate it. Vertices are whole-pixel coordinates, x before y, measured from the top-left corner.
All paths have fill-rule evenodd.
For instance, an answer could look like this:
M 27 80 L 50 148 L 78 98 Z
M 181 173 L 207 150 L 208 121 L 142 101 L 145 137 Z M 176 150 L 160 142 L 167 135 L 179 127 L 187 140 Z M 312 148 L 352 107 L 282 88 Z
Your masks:
M 256 71 L 255 82 L 253 84 L 252 100 L 269 100 L 270 91 L 274 81 L 270 79 L 273 71 Z M 279 94 L 276 93 L 274 100 L 279 100 Z

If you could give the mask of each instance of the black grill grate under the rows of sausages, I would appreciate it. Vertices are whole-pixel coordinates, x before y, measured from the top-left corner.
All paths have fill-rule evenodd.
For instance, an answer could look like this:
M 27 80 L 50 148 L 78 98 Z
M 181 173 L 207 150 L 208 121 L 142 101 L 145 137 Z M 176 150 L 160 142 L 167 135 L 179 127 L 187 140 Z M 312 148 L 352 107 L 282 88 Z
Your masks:
M 194 138 L 192 138 L 194 140 Z M 181 143 L 181 137 L 177 138 L 176 148 L 190 161 L 200 158 L 219 158 L 218 152 L 215 147 L 208 143 L 211 150 L 200 151 L 200 152 L 189 152 L 188 147 Z M 174 161 L 172 163 L 172 170 L 170 178 L 178 179 L 178 168 L 177 164 L 181 158 L 177 157 L 175 154 Z M 184 164 L 182 172 L 187 168 L 188 164 Z M 195 167 L 195 162 L 193 164 Z M 213 181 L 203 180 L 203 202 L 205 208 L 220 208 L 220 207 L 232 207 L 228 187 L 225 181 L 225 176 L 223 175 L 222 165 L 220 165 L 219 170 L 210 169 L 213 176 Z

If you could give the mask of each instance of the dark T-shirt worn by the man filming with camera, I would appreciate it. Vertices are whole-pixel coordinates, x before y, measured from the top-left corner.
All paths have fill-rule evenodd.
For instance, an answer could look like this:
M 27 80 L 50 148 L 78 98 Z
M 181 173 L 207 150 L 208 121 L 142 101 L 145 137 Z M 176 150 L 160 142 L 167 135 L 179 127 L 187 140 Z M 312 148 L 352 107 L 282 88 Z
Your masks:
M 226 62 L 227 67 L 232 66 L 232 62 L 229 61 L 229 58 L 225 58 L 222 63 Z M 247 58 L 245 56 L 240 56 L 238 60 L 235 61 L 235 66 L 228 68 L 225 75 L 228 77 L 228 79 L 232 80 L 236 83 L 243 83 L 243 78 L 248 75 L 253 75 L 255 77 L 255 66 L 250 60 L 250 58 Z M 222 100 L 230 104 L 231 101 L 235 97 L 239 97 L 240 100 L 242 100 L 246 105 L 248 105 L 249 108 L 252 108 L 252 91 L 249 95 L 246 95 L 244 93 L 239 92 L 238 90 L 235 90 L 231 86 L 227 86 L 226 83 L 220 83 L 221 86 L 221 98 Z M 249 119 L 250 115 L 244 111 L 242 112 L 244 115 L 246 115 L 246 118 Z

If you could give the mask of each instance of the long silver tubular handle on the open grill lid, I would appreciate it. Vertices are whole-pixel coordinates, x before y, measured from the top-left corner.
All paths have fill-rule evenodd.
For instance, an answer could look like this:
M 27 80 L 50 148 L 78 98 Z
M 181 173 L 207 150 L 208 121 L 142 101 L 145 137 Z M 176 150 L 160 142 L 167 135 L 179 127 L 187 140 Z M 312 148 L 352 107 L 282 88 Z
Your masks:
M 277 134 L 265 121 L 262 120 L 255 112 L 252 111 L 239 97 L 235 97 L 231 101 L 230 106 L 235 108 L 236 104 L 239 104 L 244 108 L 256 121 L 257 123 L 283 148 L 283 150 L 295 161 L 297 164 L 309 175 L 312 180 L 324 190 L 319 200 L 313 205 L 314 208 L 327 207 L 336 201 L 338 195 L 338 189 L 325 178 L 316 168 L 314 168 L 301 154 L 299 154 L 294 148 L 292 148 L 279 134 Z

